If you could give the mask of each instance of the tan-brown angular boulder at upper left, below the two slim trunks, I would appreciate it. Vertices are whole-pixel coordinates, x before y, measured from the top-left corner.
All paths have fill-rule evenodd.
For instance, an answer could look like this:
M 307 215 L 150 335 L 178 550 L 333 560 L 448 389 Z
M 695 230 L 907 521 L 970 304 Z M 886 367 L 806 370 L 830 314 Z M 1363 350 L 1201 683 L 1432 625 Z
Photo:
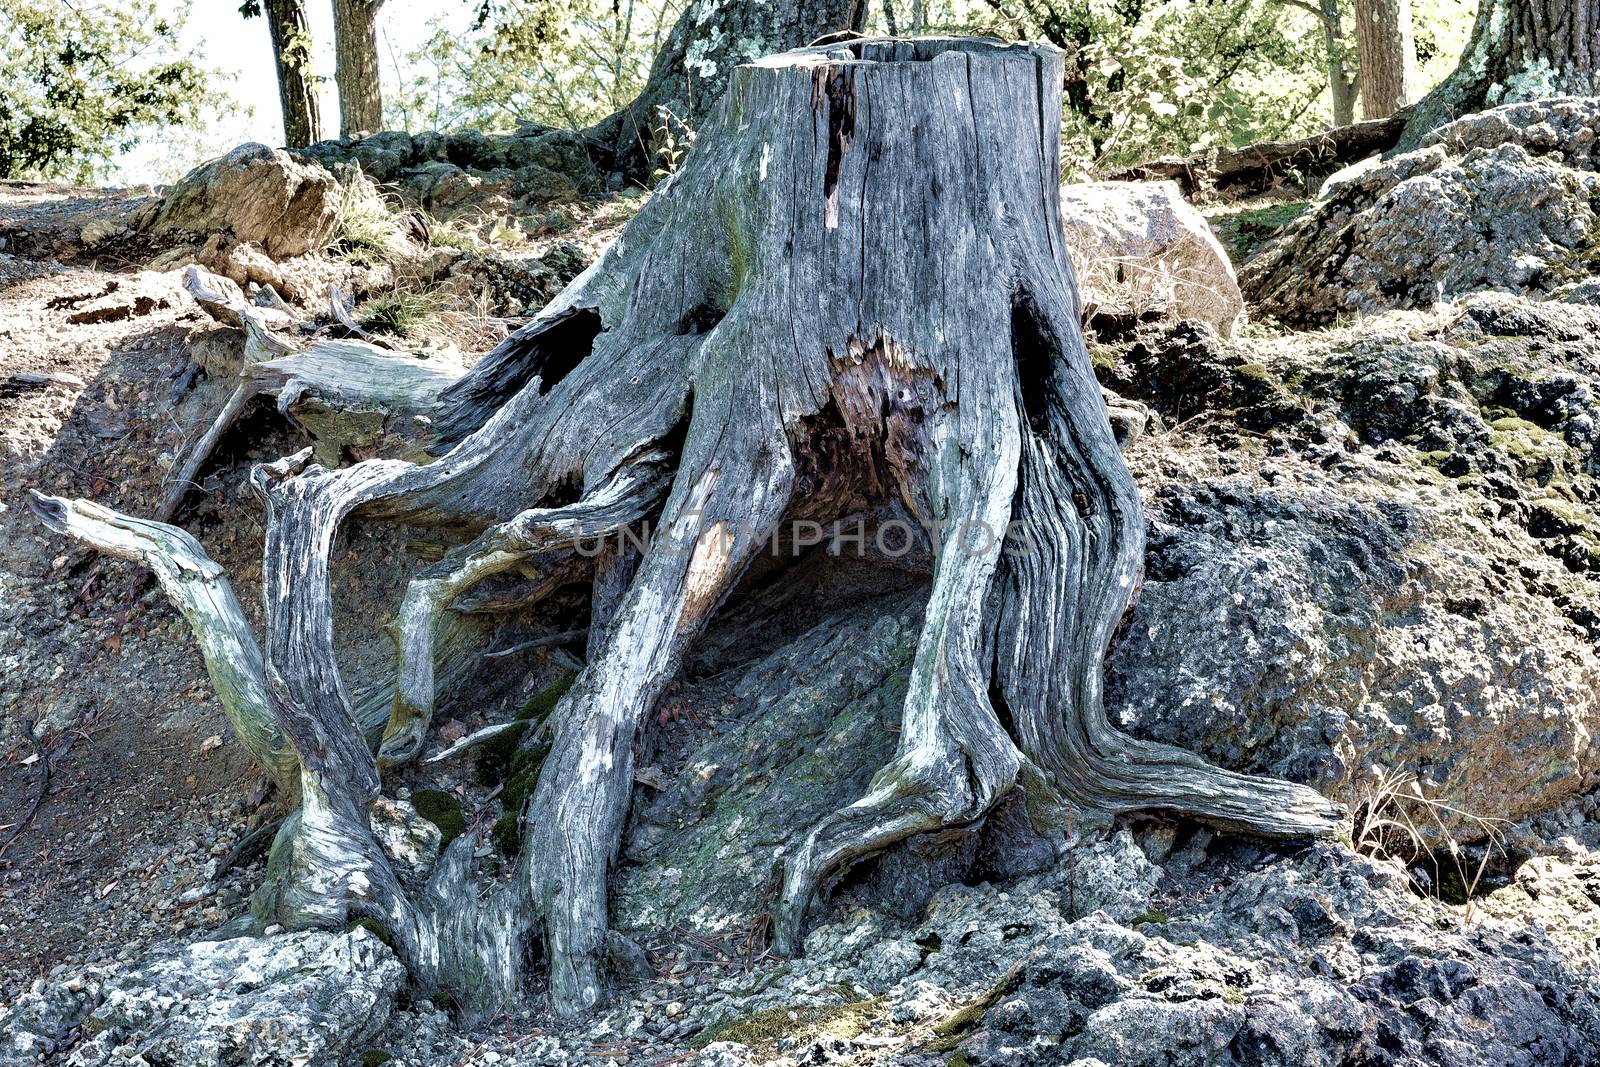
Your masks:
M 136 219 L 149 234 L 232 234 L 272 259 L 326 248 L 339 226 L 341 187 L 318 163 L 242 144 L 195 168 Z

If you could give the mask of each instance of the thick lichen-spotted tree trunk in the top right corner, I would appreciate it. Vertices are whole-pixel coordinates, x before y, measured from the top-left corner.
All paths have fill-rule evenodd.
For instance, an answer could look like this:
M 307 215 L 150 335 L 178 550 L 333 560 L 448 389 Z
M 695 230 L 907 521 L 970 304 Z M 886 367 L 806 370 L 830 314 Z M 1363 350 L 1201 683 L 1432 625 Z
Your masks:
M 1400 149 L 1475 110 L 1600 93 L 1600 0 L 1480 0 L 1454 74 L 1424 96 Z

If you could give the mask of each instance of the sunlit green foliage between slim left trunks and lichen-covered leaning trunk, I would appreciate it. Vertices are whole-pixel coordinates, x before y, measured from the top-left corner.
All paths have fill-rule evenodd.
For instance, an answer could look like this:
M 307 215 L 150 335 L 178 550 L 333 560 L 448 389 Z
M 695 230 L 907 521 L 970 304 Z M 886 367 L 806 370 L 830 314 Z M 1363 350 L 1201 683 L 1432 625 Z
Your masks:
M 435 22 L 406 56 L 418 72 L 389 101 L 403 130 L 581 130 L 638 94 L 672 19 L 661 0 L 506 0 L 477 29 Z

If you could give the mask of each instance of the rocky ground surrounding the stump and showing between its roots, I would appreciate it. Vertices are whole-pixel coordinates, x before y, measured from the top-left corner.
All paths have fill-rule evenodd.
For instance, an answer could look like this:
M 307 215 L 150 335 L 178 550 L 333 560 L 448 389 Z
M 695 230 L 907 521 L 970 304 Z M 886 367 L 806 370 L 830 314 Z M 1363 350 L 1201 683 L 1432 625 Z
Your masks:
M 374 160 L 406 181 L 472 187 L 429 163 L 448 146 L 389 147 Z M 477 278 L 493 338 L 523 310 L 494 278 L 570 274 L 582 253 L 555 245 L 592 248 L 632 210 L 574 195 L 515 254 L 450 258 L 414 227 L 408 248 L 491 262 L 448 288 Z M 533 987 L 464 1024 L 408 989 L 382 931 L 226 937 L 277 800 L 139 568 L 27 510 L 42 490 L 152 512 L 242 347 L 176 267 L 283 280 L 251 274 L 237 234 L 152 237 L 147 203 L 0 187 L 0 1064 L 1600 1062 L 1600 312 L 1571 278 L 1421 307 L 1411 286 L 1302 333 L 1104 322 L 1091 342 L 1150 518 L 1114 720 L 1318 787 L 1357 814 L 1347 838 L 1147 816 L 1053 840 L 1008 803 L 862 864 L 805 953 L 774 958 L 771 857 L 893 750 L 925 581 L 822 550 L 757 568 L 659 709 L 613 886 L 616 1003 L 562 1027 Z M 288 259 L 357 310 L 395 285 L 344 253 Z M 307 341 L 333 330 L 310 304 Z M 179 514 L 250 613 L 243 478 L 301 443 L 259 403 Z M 389 662 L 379 624 L 429 552 L 366 526 L 341 549 L 350 677 Z M 526 635 L 581 625 L 579 603 Z M 498 657 L 446 694 L 440 741 L 549 701 L 581 653 Z M 470 833 L 486 877 L 509 865 L 517 777 L 493 752 L 386 785 L 421 862 Z

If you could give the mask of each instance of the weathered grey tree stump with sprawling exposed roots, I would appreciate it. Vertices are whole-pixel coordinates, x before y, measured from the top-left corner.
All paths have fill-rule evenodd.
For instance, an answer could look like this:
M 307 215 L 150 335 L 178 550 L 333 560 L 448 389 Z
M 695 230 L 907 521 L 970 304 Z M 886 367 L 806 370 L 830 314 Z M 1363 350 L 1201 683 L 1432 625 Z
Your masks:
M 928 608 L 894 760 L 778 857 L 779 950 L 853 862 L 971 824 L 1016 787 L 1045 827 L 1158 808 L 1272 837 L 1338 829 L 1309 789 L 1106 720 L 1101 661 L 1144 517 L 1078 333 L 1061 74 L 1053 48 L 965 38 L 742 66 L 605 256 L 440 395 L 435 462 L 328 470 L 301 453 L 258 469 L 266 640 L 259 686 L 235 688 L 264 694 L 266 747 L 298 755 L 302 797 L 262 921 L 376 918 L 416 981 L 474 1011 L 515 993 L 538 939 L 555 1006 L 600 1003 L 606 877 L 650 712 L 754 557 L 794 541 L 787 523 L 859 514 L 931 544 Z M 85 507 L 38 504 L 80 536 L 67 517 Z M 467 531 L 403 600 L 376 744 L 333 651 L 328 558 L 350 517 Z M 488 574 L 570 565 L 573 544 L 645 518 L 638 558 L 595 568 L 589 662 L 550 713 L 517 877 L 475 893 L 466 835 L 408 896 L 371 809 L 379 766 L 427 736 L 445 609 Z

